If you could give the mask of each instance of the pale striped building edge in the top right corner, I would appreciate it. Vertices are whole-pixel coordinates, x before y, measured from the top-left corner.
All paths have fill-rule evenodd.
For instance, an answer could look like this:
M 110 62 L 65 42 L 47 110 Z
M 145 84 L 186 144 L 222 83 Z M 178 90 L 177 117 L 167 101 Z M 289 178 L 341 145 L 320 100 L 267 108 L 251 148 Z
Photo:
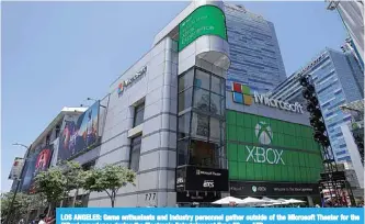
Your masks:
M 351 37 L 360 63 L 364 66 L 364 1 L 335 1 L 329 0 L 329 10 L 337 10 Z

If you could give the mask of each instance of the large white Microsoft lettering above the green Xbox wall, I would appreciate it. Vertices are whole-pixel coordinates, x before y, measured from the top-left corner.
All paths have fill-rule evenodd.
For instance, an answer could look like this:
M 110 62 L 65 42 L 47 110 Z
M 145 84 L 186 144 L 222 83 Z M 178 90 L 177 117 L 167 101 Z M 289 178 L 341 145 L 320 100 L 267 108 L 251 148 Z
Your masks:
M 260 94 L 256 91 L 253 93 L 253 97 L 254 97 L 254 102 L 255 103 L 261 103 L 261 104 L 269 105 L 269 107 L 272 107 L 272 108 L 278 108 L 278 109 L 282 109 L 282 110 L 285 110 L 285 111 L 303 113 L 303 105 L 298 102 L 288 103 L 288 102 L 285 102 L 285 101 L 269 98 L 264 94 Z

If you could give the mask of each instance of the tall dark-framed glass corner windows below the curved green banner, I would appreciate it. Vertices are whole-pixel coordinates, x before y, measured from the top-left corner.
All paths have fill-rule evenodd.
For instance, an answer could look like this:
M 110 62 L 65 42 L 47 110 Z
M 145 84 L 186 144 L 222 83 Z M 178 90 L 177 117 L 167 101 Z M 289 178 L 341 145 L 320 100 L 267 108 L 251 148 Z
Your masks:
M 201 68 L 179 77 L 178 166 L 226 168 L 225 79 Z

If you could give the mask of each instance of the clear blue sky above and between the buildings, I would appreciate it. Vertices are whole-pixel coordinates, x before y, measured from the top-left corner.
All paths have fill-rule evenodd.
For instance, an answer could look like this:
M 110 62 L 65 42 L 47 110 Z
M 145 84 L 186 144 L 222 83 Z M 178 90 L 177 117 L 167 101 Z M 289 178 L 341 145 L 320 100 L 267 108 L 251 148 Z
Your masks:
M 1 189 L 19 142 L 31 144 L 64 107 L 106 96 L 189 2 L 2 2 Z M 346 33 L 320 2 L 240 2 L 274 23 L 286 72 Z

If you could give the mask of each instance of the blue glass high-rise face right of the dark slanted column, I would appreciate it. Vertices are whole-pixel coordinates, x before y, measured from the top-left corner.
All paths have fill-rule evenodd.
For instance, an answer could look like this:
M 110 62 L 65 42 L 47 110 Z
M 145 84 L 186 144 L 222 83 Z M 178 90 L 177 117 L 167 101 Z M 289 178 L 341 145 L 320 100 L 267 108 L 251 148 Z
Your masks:
M 363 99 L 364 80 L 360 67 L 349 63 L 351 55 L 328 51 L 327 57 L 320 61 L 317 69 L 311 69 L 318 100 L 334 157 L 338 161 L 351 161 L 347 145 L 341 126 L 351 123 L 351 114 L 341 111 L 340 105 Z

